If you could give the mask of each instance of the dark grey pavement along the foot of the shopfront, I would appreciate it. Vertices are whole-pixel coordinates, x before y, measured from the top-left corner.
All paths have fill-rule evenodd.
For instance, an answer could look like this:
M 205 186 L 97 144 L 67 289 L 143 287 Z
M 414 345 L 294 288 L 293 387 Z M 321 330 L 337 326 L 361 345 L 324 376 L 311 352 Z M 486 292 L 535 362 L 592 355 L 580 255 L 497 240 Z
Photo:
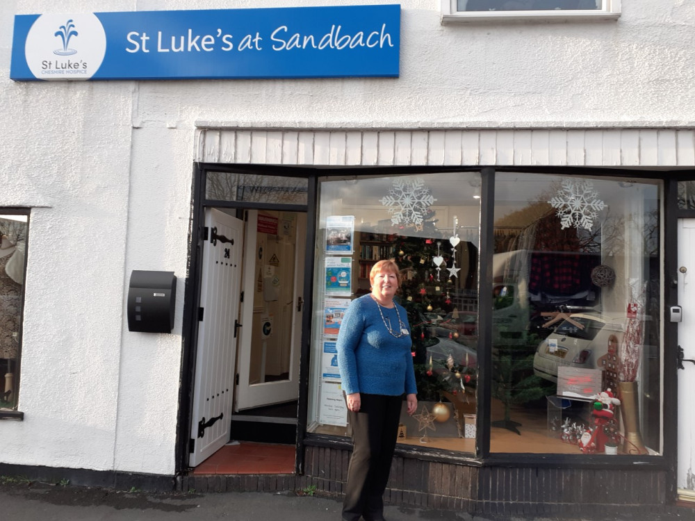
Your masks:
M 519 518 L 388 505 L 389 521 L 671 521 L 695 520 L 695 510 L 597 518 Z M 38 482 L 0 483 L 2 521 L 339 521 L 336 497 L 282 493 L 147 493 Z

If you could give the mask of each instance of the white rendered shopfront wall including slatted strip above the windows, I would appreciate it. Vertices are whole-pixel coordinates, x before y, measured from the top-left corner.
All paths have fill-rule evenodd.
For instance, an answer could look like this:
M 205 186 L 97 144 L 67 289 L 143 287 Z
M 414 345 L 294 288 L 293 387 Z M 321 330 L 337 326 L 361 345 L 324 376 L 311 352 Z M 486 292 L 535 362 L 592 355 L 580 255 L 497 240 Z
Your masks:
M 15 14 L 259 6 L 254 0 L 96 3 L 0 3 L 0 207 L 33 208 L 19 390 L 25 417 L 0 422 L 0 463 L 174 472 L 196 158 L 695 164 L 690 1 L 623 1 L 617 22 L 441 26 L 439 0 L 402 0 L 400 78 L 8 79 Z M 262 5 L 364 3 L 379 2 Z M 199 127 L 249 132 L 215 137 Z M 252 129 L 290 131 L 254 138 Z M 380 132 L 363 133 L 370 129 Z M 205 146 L 208 139 L 218 140 L 215 153 Z M 230 139 L 234 151 L 224 148 Z M 179 277 L 172 335 L 127 331 L 131 270 Z

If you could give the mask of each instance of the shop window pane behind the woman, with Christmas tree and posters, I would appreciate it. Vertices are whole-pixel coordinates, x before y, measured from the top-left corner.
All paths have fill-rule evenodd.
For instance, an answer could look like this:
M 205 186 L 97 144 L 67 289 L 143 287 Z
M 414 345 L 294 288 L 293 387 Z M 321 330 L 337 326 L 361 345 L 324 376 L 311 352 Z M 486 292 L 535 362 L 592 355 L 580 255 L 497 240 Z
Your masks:
M 393 258 L 408 313 L 418 410 L 401 414 L 399 443 L 475 452 L 480 174 L 326 178 L 319 221 L 309 431 L 346 436 L 336 363 L 341 318 Z

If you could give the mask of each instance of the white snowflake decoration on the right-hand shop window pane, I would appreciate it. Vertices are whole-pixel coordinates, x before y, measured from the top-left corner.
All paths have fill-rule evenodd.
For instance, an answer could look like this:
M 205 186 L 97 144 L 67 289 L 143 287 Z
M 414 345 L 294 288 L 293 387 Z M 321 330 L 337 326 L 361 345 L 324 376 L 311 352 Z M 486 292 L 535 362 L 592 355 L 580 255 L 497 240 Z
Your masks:
M 557 195 L 548 203 L 557 210 L 563 230 L 574 226 L 591 231 L 598 213 L 605 207 L 605 203 L 598 199 L 594 183 L 571 179 L 562 181 Z

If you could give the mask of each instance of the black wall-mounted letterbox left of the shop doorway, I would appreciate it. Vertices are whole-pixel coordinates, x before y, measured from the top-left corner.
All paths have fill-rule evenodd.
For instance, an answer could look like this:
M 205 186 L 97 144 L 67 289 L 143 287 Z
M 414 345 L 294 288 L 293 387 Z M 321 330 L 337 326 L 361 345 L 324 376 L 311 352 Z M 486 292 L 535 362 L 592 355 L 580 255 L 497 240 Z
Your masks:
M 128 331 L 171 333 L 175 304 L 174 272 L 133 270 L 128 290 Z

